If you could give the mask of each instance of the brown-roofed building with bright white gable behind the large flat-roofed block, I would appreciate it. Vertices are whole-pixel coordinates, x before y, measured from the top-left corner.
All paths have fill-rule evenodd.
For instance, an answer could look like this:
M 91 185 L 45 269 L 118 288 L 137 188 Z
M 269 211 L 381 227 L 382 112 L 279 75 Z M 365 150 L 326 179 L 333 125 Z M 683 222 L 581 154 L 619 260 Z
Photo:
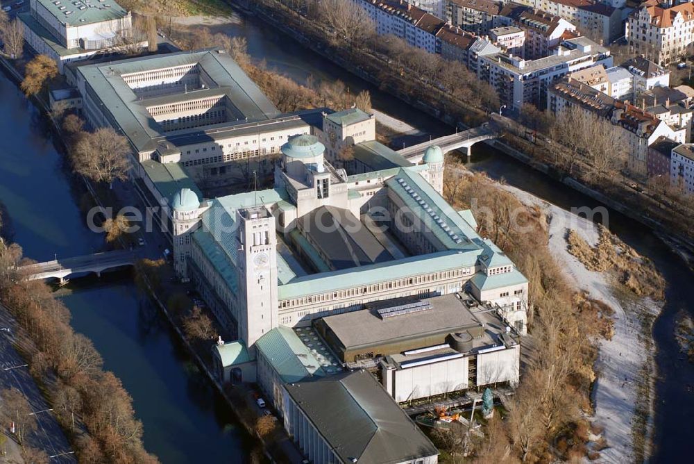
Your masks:
M 540 10 L 523 11 L 517 24 L 525 31 L 525 58 L 529 60 L 550 55 L 559 42 L 578 35 L 576 26 L 566 19 Z

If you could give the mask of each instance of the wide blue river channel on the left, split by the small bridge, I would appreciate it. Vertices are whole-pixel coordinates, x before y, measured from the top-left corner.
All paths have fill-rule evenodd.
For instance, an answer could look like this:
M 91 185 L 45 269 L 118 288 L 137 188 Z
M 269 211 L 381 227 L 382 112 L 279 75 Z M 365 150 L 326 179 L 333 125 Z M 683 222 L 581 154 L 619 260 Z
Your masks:
M 24 256 L 52 260 L 103 247 L 85 226 L 46 120 L 0 73 L 0 202 Z M 71 324 L 94 341 L 104 367 L 133 397 L 144 446 L 163 463 L 243 462 L 251 440 L 198 372 L 168 322 L 127 272 L 81 279 L 60 290 Z

